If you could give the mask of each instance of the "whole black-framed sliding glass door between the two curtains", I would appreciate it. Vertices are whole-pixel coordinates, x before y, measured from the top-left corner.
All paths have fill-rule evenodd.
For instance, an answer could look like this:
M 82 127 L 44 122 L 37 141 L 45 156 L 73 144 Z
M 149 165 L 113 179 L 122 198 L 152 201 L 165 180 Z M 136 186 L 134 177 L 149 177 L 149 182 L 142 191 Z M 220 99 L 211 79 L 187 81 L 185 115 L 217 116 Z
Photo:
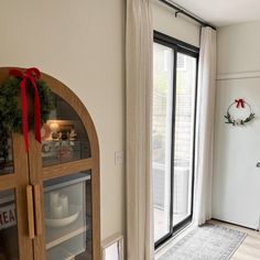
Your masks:
M 155 33 L 152 117 L 155 246 L 189 223 L 193 215 L 198 53 L 180 43 Z

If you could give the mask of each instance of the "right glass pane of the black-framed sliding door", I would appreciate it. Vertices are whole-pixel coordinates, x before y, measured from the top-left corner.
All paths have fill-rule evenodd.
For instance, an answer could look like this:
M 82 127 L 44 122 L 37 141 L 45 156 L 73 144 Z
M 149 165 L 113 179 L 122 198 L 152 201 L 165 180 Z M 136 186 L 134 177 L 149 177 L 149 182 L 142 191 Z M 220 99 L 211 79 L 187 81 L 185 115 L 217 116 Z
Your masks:
M 196 58 L 177 53 L 173 226 L 191 215 Z

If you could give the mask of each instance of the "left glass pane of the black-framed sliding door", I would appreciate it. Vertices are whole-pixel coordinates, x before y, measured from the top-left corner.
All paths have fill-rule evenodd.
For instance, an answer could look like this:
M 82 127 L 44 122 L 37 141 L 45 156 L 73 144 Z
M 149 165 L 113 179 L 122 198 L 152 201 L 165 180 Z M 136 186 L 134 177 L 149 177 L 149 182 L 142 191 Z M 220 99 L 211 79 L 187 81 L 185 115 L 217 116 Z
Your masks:
M 154 240 L 170 232 L 173 51 L 153 46 L 152 174 Z

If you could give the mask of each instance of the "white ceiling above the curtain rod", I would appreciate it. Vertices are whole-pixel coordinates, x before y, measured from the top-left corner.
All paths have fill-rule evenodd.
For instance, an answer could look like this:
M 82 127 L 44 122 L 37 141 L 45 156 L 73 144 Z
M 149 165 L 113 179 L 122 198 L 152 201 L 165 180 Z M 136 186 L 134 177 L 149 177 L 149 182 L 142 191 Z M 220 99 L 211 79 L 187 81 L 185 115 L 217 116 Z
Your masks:
M 260 20 L 260 0 L 172 0 L 215 26 Z

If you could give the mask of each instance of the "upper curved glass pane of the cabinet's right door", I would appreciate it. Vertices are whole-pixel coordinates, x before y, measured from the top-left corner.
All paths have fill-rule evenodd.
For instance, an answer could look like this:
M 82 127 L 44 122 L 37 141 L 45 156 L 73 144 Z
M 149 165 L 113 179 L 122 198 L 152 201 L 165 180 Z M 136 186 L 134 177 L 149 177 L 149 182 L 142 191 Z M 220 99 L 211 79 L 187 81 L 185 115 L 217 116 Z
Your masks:
M 75 110 L 54 95 L 55 109 L 42 128 L 43 166 L 90 158 L 87 132 Z

